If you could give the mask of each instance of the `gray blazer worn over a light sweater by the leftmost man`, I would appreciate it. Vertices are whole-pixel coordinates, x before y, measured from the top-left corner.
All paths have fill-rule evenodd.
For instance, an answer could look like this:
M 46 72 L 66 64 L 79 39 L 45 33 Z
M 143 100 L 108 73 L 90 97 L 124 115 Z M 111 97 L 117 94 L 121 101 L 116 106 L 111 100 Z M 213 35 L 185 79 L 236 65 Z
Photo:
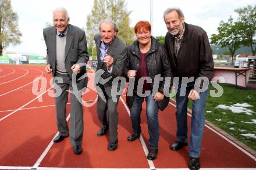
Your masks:
M 56 28 L 48 27 L 43 31 L 44 41 L 47 46 L 47 64 L 52 67 L 52 75 L 56 74 Z M 67 25 L 67 38 L 65 47 L 65 67 L 70 78 L 72 78 L 73 71 L 71 67 L 73 64 L 87 63 L 89 55 L 87 53 L 86 33 L 79 27 Z M 77 74 L 76 79 L 79 79 L 86 73 L 86 66 L 81 67 L 81 72 Z M 77 81 L 79 89 L 87 85 L 87 77 Z

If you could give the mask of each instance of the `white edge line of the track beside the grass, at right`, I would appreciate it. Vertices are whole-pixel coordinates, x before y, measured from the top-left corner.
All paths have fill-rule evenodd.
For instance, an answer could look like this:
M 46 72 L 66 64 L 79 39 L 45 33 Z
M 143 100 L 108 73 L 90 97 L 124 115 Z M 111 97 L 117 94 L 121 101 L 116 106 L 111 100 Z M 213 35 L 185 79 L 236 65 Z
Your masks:
M 176 107 L 175 104 L 170 103 L 172 106 Z M 191 117 L 191 114 L 189 112 L 187 112 L 187 114 Z M 222 135 L 220 132 L 216 131 L 215 129 L 211 128 L 211 126 L 205 124 L 205 127 L 207 127 L 208 129 L 210 129 L 212 132 L 215 132 L 217 135 L 221 136 L 223 139 L 225 139 L 227 142 L 231 143 L 234 147 L 236 147 L 237 149 L 239 149 L 240 151 L 242 151 L 244 154 L 248 155 L 248 157 L 253 158 L 254 161 L 256 161 L 256 157 L 249 153 L 247 150 L 243 149 L 241 146 L 239 146 L 238 144 L 234 143 L 232 140 L 226 138 L 226 136 Z

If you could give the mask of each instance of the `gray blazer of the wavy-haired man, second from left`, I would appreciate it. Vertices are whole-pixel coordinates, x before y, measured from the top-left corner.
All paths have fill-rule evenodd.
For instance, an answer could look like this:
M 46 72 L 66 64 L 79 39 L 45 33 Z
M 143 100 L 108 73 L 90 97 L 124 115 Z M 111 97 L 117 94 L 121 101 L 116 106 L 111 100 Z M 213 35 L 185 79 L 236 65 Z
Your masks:
M 103 79 L 109 78 L 112 76 L 111 79 L 109 79 L 108 82 L 106 82 L 103 86 L 105 89 L 106 94 L 108 97 L 111 97 L 111 88 L 112 88 L 112 83 L 113 79 L 116 77 L 123 76 L 123 69 L 125 68 L 125 62 L 126 62 L 126 55 L 127 55 L 127 46 L 125 42 L 123 42 L 120 38 L 115 37 L 109 46 L 108 50 L 106 53 L 110 56 L 113 57 L 114 61 L 112 64 L 112 73 L 108 73 L 106 64 L 101 62 L 101 51 L 99 50 L 99 45 L 101 43 L 101 37 L 99 34 L 96 34 L 94 36 L 94 41 L 96 44 L 97 48 L 97 59 L 98 59 L 98 65 L 97 65 L 97 71 L 99 69 L 104 70 L 104 73 L 101 75 Z M 120 88 L 120 82 L 118 85 L 116 85 L 118 90 Z M 101 87 L 103 88 L 103 87 Z M 112 97 L 111 97 L 112 98 Z

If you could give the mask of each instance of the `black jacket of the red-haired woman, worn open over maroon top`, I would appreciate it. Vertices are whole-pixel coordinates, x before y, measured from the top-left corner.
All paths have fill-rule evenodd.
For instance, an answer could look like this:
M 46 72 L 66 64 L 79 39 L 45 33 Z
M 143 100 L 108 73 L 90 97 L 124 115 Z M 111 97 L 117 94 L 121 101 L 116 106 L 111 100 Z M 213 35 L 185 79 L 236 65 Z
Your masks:
M 145 61 L 147 66 L 148 77 L 152 79 L 152 83 L 150 84 L 151 89 L 153 90 L 155 75 L 160 74 L 161 77 L 163 77 L 163 81 L 159 82 L 158 92 L 161 92 L 166 95 L 166 91 L 169 92 L 170 88 L 172 88 L 172 82 L 173 82 L 172 71 L 170 68 L 170 63 L 166 53 L 165 46 L 162 45 L 160 42 L 158 42 L 157 39 L 155 39 L 152 36 L 151 36 L 151 48 L 148 51 Z M 126 65 L 124 70 L 125 77 L 127 78 L 126 73 L 129 70 L 138 70 L 139 65 L 140 65 L 140 49 L 138 48 L 138 41 L 136 40 L 128 48 Z M 169 84 L 165 85 L 166 77 L 169 77 L 171 79 L 169 81 Z M 168 89 L 166 89 L 166 87 L 168 87 Z M 165 91 L 163 90 L 164 88 L 165 88 Z M 133 105 L 133 100 L 135 95 L 136 95 L 135 92 L 133 92 L 133 96 L 126 95 L 126 103 L 129 107 Z M 163 100 L 157 102 L 160 110 L 165 109 L 165 107 L 169 103 L 169 95 L 168 97 L 166 96 L 163 97 Z

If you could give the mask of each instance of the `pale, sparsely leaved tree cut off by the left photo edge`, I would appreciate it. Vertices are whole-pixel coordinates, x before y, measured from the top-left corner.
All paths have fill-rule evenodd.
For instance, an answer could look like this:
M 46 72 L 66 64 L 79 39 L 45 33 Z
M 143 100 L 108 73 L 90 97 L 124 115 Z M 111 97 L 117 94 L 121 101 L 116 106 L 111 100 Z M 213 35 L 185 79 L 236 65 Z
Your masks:
M 18 16 L 12 11 L 10 0 L 0 0 L 0 56 L 2 56 L 3 48 L 10 44 L 20 44 L 21 36 Z

